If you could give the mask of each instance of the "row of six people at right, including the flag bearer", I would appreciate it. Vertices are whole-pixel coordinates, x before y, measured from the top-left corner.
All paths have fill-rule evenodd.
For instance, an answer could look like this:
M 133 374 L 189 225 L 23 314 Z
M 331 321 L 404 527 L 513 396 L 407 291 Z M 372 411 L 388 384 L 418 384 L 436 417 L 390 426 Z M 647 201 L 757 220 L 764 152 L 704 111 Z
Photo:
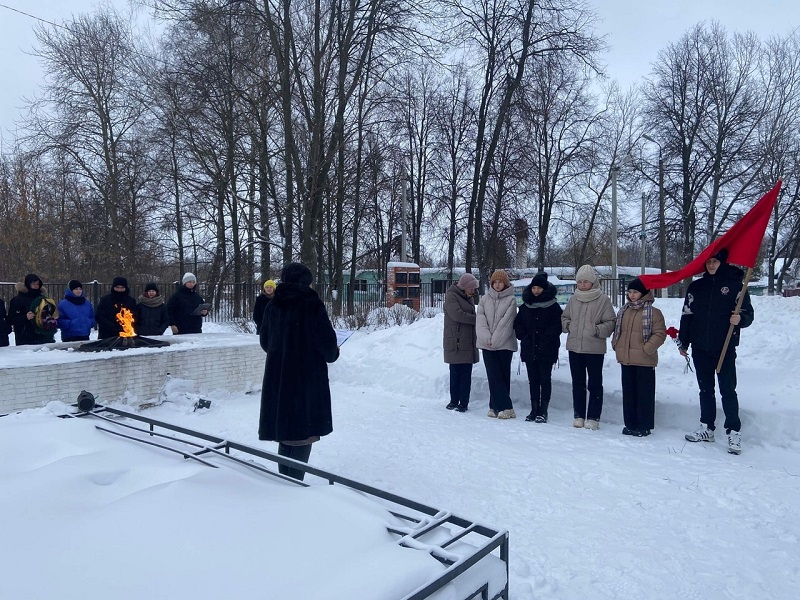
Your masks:
M 686 439 L 714 441 L 716 398 L 714 371 L 722 356 L 728 328 L 730 344 L 718 374 L 728 451 L 741 452 L 741 421 L 736 395 L 736 351 L 739 330 L 753 321 L 753 308 L 743 289 L 741 269 L 727 264 L 720 250 L 705 264 L 703 276 L 689 286 L 684 300 L 679 351 L 692 360 L 700 388 L 701 427 Z M 611 299 L 600 288 L 591 265 L 576 273 L 576 291 L 562 310 L 556 288 L 546 273 L 537 274 L 522 292 L 517 308 L 514 290 L 505 271 L 495 271 L 490 287 L 475 306 L 478 280 L 465 273 L 450 286 L 444 303 L 444 361 L 450 369 L 448 410 L 468 410 L 472 365 L 482 353 L 489 384 L 490 418 L 516 417 L 511 400 L 511 361 L 521 343 L 530 387 L 530 414 L 526 421 L 547 423 L 552 394 L 552 369 L 558 362 L 561 334 L 572 379 L 572 425 L 596 430 L 603 411 L 603 362 L 607 340 L 621 367 L 623 435 L 645 437 L 655 427 L 655 368 L 658 349 L 666 340 L 666 325 L 655 298 L 641 279 L 633 279 L 627 301 L 615 313 Z M 737 298 L 744 294 L 737 312 Z M 687 359 L 688 360 L 688 359 Z

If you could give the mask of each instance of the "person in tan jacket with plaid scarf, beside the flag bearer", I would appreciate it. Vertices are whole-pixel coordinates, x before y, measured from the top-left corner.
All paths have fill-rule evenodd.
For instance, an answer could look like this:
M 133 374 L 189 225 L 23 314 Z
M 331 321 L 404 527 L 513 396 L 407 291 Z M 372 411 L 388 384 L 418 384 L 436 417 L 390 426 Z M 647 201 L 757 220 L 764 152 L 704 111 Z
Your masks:
M 667 327 L 654 301 L 641 279 L 632 280 L 611 339 L 622 371 L 622 435 L 644 437 L 655 426 L 656 365 L 658 349 L 667 339 Z

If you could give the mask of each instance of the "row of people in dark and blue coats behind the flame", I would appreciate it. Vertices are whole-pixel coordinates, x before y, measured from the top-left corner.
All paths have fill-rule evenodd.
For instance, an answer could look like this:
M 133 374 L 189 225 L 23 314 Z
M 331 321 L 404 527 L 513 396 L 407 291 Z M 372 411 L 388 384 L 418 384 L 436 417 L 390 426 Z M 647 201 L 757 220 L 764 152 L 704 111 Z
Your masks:
M 12 330 L 17 346 L 54 342 L 57 329 L 63 342 L 88 340 L 95 327 L 98 339 L 116 337 L 123 330 L 117 318 L 123 309 L 133 316 L 137 335 L 163 335 L 168 327 L 173 334 L 201 333 L 208 311 L 202 308 L 203 298 L 196 285 L 197 277 L 186 273 L 181 287 L 168 301 L 154 282 L 134 299 L 128 280 L 115 277 L 111 292 L 100 298 L 95 310 L 77 279 L 69 281 L 64 297 L 56 302 L 47 295 L 41 278 L 30 273 L 16 284 L 17 295 L 11 299 L 7 314 L 0 299 L 0 346 L 9 345 Z

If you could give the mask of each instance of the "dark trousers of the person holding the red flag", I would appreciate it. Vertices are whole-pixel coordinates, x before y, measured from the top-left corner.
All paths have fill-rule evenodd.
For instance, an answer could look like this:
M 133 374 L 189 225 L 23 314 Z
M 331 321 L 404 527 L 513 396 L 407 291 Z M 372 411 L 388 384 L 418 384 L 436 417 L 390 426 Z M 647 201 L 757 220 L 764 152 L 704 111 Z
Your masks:
M 714 394 L 714 377 L 719 382 L 722 410 L 725 412 L 725 429 L 739 431 L 739 396 L 736 394 L 736 348 L 728 346 L 722 369 L 716 373 L 719 354 L 692 347 L 692 362 L 700 388 L 700 422 L 714 429 L 717 420 L 717 398 Z

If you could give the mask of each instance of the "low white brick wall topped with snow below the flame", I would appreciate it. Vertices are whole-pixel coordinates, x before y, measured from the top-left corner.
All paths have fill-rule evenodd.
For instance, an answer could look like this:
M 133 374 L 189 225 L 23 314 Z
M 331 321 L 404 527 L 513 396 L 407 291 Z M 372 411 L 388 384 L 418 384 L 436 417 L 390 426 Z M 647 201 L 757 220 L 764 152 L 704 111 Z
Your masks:
M 160 339 L 175 341 L 169 336 Z M 196 392 L 261 387 L 265 354 L 256 336 L 202 334 L 179 339 L 164 349 L 68 355 L 66 348 L 79 343 L 49 344 L 49 352 L 33 352 L 31 346 L 3 348 L 0 414 L 52 400 L 72 404 L 81 390 L 94 394 L 100 403 L 118 400 L 126 392 L 147 400 L 158 395 L 167 373 L 194 381 Z M 67 358 L 69 362 L 61 362 Z

